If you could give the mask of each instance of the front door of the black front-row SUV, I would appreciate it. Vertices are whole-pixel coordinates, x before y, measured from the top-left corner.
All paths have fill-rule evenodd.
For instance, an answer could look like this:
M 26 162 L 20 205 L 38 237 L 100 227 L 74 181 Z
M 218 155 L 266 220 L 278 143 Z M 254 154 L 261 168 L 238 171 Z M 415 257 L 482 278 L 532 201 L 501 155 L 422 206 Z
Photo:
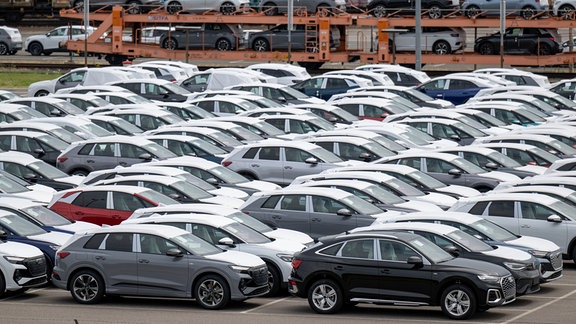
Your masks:
M 422 256 L 410 246 L 395 240 L 379 239 L 378 248 L 380 298 L 429 303 L 435 286 L 430 266 L 414 267 L 407 262 L 411 256 Z

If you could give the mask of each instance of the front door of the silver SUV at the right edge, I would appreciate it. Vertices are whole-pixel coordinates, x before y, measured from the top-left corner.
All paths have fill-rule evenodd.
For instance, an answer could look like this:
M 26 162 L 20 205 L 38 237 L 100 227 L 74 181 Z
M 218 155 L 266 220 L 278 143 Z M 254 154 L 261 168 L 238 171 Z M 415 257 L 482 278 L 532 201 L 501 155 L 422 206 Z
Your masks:
M 568 224 L 573 221 L 537 201 L 519 201 L 516 208 L 520 235 L 541 237 L 566 249 L 572 238 L 568 233 Z M 549 221 L 551 215 L 558 215 L 562 221 Z

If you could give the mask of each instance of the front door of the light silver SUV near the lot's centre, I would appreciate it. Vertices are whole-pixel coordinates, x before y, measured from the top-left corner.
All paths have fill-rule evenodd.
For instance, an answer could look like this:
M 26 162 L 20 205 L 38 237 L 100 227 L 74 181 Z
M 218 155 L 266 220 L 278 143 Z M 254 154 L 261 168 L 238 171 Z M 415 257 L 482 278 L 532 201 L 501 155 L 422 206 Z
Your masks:
M 326 166 L 324 161 L 295 147 L 284 147 L 281 151 L 282 184 L 288 185 L 302 175 L 320 173 Z

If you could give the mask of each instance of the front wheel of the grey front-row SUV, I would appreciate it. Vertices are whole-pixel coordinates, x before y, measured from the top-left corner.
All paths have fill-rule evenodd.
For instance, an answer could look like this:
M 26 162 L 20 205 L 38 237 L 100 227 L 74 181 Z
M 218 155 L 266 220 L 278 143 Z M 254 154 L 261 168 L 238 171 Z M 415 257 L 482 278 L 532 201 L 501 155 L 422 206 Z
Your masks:
M 206 275 L 194 287 L 196 302 L 205 309 L 222 309 L 230 302 L 230 288 L 222 277 Z

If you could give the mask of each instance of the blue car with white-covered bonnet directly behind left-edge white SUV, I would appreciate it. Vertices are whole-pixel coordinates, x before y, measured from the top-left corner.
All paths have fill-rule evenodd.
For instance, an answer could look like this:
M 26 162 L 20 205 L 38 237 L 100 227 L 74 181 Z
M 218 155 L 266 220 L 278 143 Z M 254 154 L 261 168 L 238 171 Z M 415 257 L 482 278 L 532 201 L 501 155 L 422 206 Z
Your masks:
M 8 241 L 26 243 L 39 248 L 46 257 L 48 274 L 52 273 L 56 251 L 72 237 L 71 234 L 62 232 L 48 232 L 4 210 L 0 211 L 0 230 L 8 234 Z

